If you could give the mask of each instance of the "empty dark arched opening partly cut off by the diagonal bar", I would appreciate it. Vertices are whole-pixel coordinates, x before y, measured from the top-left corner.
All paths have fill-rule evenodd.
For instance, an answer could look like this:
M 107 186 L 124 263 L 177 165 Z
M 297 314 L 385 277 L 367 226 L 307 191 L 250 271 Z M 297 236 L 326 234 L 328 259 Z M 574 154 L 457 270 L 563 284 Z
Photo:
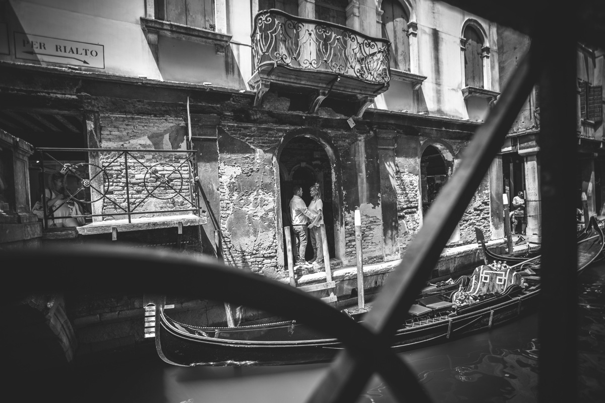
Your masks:
M 420 158 L 420 182 L 422 188 L 422 215 L 437 198 L 437 193 L 448 180 L 448 169 L 437 147 L 427 146 Z

